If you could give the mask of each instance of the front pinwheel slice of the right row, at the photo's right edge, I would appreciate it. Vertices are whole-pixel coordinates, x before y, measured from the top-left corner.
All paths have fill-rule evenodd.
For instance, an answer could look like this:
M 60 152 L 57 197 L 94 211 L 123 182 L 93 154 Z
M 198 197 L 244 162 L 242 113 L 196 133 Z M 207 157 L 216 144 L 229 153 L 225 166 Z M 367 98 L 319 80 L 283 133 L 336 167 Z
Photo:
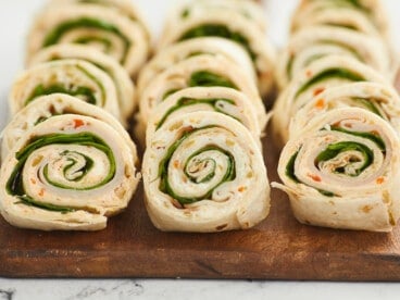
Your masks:
M 342 108 L 315 117 L 284 148 L 274 184 L 304 224 L 390 232 L 400 216 L 400 141 L 382 117 Z

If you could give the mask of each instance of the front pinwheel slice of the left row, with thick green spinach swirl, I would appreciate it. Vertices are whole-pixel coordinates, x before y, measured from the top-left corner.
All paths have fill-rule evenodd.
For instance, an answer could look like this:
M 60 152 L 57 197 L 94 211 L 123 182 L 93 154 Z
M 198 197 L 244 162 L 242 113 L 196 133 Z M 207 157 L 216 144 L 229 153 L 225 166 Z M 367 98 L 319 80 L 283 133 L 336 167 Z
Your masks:
M 12 225 L 98 230 L 124 210 L 138 184 L 132 147 L 105 122 L 53 116 L 24 135 L 0 174 L 0 211 Z

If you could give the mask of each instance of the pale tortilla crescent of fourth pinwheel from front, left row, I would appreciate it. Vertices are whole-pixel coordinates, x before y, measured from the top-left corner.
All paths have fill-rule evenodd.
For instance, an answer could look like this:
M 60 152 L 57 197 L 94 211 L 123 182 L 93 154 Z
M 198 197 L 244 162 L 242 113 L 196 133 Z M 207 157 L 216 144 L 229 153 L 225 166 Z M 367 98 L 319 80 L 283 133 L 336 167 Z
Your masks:
M 121 114 L 127 120 L 136 108 L 135 86 L 127 72 L 109 55 L 91 47 L 74 43 L 60 43 L 42 49 L 30 60 L 29 66 L 39 63 L 78 59 L 85 60 L 104 71 L 114 82 Z

